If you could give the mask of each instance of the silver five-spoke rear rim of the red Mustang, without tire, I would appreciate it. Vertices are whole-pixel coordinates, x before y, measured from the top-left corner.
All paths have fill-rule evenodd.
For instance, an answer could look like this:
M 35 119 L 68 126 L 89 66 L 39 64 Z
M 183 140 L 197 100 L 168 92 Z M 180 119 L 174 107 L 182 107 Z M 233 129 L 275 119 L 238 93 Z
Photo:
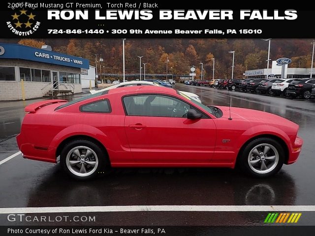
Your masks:
M 94 150 L 85 146 L 72 148 L 65 159 L 69 171 L 81 177 L 92 175 L 98 166 L 98 158 Z

